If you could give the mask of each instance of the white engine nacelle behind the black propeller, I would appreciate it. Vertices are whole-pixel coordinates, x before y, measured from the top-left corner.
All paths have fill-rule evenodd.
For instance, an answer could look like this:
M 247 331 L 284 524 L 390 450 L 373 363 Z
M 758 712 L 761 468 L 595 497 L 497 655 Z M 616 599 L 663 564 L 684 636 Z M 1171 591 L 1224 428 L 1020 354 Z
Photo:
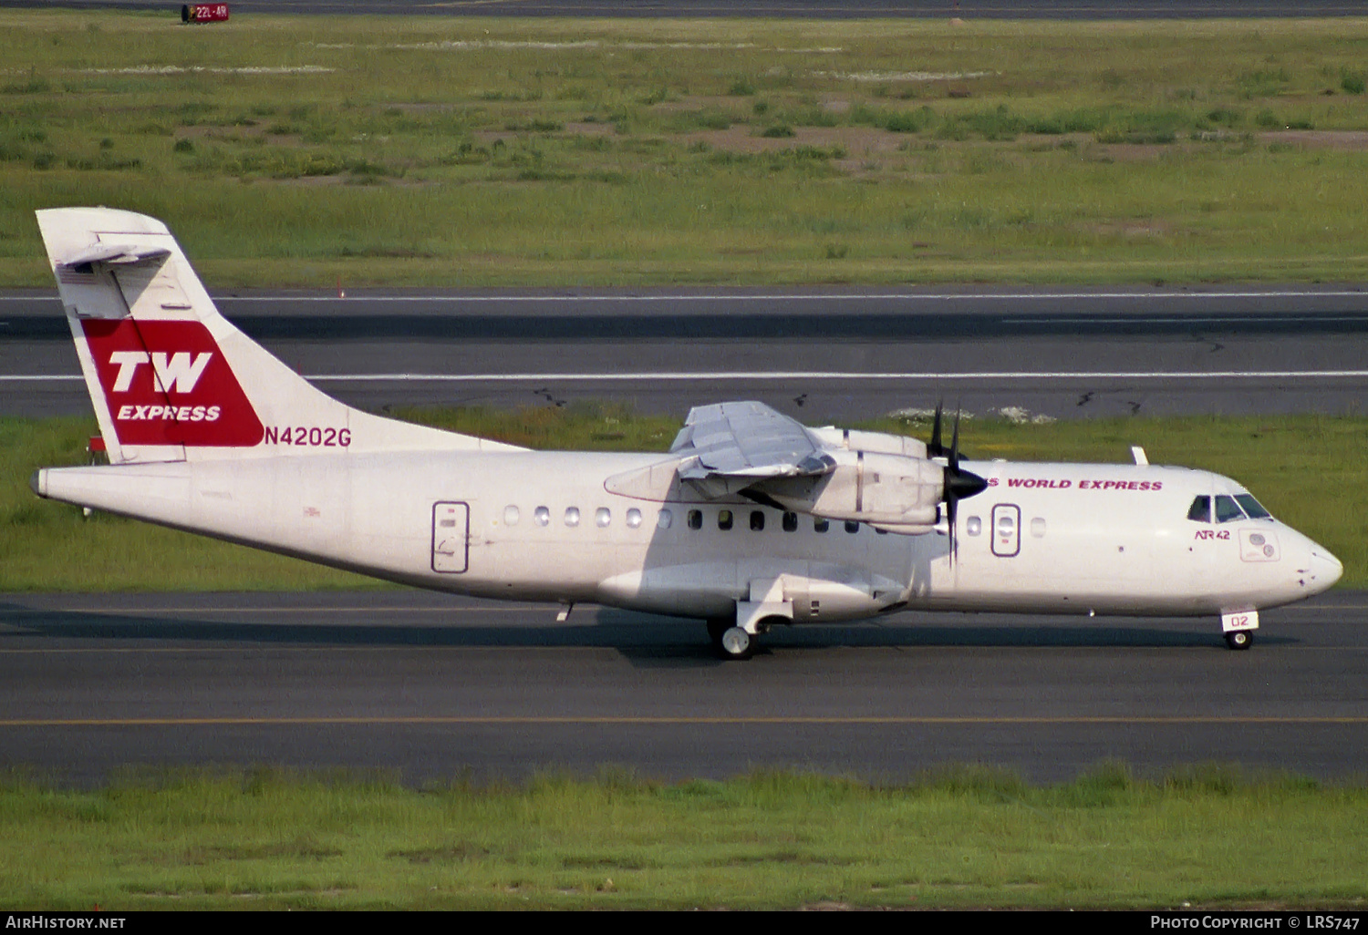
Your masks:
M 854 519 L 889 532 L 926 532 L 936 524 L 945 489 L 945 469 L 938 463 L 878 451 L 836 454 L 836 469 L 828 474 L 758 487 L 785 509 L 828 519 Z

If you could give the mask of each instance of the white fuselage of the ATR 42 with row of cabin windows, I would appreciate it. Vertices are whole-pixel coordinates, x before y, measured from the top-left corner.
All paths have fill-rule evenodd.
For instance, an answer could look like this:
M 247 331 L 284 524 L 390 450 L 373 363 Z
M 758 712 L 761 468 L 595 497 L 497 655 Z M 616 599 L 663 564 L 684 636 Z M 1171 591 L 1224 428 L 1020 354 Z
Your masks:
M 744 498 L 628 496 L 658 454 L 413 452 L 48 469 L 44 496 L 424 588 L 721 618 L 776 582 L 792 619 L 891 608 L 1204 615 L 1319 593 L 1339 563 L 1290 526 L 1189 518 L 1246 495 L 1201 470 L 964 462 L 953 536 L 880 533 Z M 677 488 L 676 488 L 677 493 Z

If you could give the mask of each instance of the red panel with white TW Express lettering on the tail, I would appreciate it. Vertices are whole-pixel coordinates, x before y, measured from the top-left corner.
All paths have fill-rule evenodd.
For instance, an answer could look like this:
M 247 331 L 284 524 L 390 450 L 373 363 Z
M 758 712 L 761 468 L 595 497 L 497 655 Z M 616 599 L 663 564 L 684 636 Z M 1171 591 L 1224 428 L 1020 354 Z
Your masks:
M 198 321 L 82 321 L 120 444 L 246 447 L 264 429 Z

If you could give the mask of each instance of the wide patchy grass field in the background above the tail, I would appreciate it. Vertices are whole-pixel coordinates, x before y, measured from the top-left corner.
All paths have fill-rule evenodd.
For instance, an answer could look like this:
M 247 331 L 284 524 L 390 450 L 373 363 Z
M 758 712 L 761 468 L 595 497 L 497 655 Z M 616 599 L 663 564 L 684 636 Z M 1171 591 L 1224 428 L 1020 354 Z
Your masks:
M 1368 130 L 1368 19 L 174 12 L 0 12 L 0 286 L 70 204 L 212 287 L 1368 279 L 1368 152 L 1278 135 Z

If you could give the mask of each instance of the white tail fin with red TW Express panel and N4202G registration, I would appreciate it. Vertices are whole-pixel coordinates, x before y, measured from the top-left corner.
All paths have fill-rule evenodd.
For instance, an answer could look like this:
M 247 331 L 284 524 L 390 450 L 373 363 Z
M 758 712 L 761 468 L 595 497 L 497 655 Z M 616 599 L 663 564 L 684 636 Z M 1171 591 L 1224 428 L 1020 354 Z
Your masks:
M 513 450 L 371 416 L 316 390 L 219 314 L 156 219 L 109 208 L 37 213 L 111 463 Z

